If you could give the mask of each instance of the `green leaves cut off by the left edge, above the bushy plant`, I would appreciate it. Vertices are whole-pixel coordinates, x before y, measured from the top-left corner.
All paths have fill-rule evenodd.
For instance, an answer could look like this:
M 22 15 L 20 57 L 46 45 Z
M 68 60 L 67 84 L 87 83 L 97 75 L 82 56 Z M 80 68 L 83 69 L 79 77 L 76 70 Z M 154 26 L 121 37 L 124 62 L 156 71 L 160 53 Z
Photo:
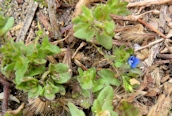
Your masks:
M 0 15 L 0 37 L 3 37 L 9 31 L 13 24 L 13 17 L 8 18 Z

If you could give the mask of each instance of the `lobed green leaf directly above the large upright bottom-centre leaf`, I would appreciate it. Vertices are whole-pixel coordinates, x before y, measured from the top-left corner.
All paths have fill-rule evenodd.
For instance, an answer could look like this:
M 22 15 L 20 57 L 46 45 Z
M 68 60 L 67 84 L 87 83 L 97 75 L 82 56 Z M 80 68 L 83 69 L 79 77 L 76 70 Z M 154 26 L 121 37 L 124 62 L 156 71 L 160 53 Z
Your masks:
M 103 78 L 103 82 L 106 85 L 116 85 L 119 86 L 120 85 L 120 81 L 118 79 L 115 78 L 115 74 L 113 71 L 110 71 L 108 69 L 102 69 L 98 72 L 98 75 L 100 77 Z

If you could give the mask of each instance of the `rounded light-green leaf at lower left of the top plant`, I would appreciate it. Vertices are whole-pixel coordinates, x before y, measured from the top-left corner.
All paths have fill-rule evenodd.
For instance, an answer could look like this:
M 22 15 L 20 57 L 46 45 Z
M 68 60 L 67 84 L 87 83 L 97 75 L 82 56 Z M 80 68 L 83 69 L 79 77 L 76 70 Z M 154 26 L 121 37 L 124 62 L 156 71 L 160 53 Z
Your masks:
M 82 27 L 74 33 L 74 36 L 80 39 L 90 41 L 91 39 L 93 39 L 95 33 L 96 31 L 91 27 Z

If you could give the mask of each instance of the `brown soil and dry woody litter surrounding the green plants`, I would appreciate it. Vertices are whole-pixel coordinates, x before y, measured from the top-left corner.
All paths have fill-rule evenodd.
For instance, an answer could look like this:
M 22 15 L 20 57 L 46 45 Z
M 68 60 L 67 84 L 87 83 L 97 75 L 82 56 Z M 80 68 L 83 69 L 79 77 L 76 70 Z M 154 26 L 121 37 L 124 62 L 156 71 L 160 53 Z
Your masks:
M 38 0 L 44 1 L 44 0 Z M 46 0 L 45 0 L 46 1 Z M 88 43 L 72 36 L 72 18 L 76 13 L 76 4 L 79 0 L 51 0 L 55 5 L 55 19 L 49 17 L 53 11 L 49 11 L 48 4 L 44 6 L 38 2 L 38 6 L 34 6 L 37 10 L 33 14 L 31 22 L 24 36 L 25 43 L 34 40 L 35 33 L 38 30 L 38 21 L 41 24 L 45 33 L 49 36 L 52 43 L 58 42 L 58 37 L 64 39 L 58 43 L 58 46 L 64 49 L 64 53 L 58 56 L 58 61 L 64 61 L 64 54 L 67 48 L 70 48 L 70 57 L 67 59 L 70 62 L 73 77 L 78 74 L 78 67 L 87 70 L 95 67 L 97 70 L 102 68 L 112 68 L 104 54 L 112 54 L 111 50 L 102 48 L 103 54 L 96 46 L 100 45 Z M 80 0 L 82 1 L 82 0 Z M 106 0 L 92 0 L 86 4 L 89 8 L 94 7 L 98 3 L 105 3 Z M 145 64 L 142 68 L 144 75 L 137 79 L 140 86 L 133 93 L 125 92 L 122 87 L 114 96 L 115 111 L 119 116 L 122 116 L 118 110 L 118 106 L 124 99 L 139 109 L 139 116 L 171 116 L 172 102 L 172 63 L 171 63 L 171 38 L 172 38 L 172 1 L 159 2 L 157 0 L 125 0 L 129 2 L 128 9 L 131 12 L 131 17 L 116 17 L 112 16 L 116 23 L 115 36 L 113 38 L 114 46 L 126 45 L 135 50 L 135 55 Z M 0 0 L 1 10 L 6 16 L 14 17 L 14 28 L 8 33 L 9 37 L 15 40 L 19 38 L 26 20 L 26 15 L 29 13 L 32 0 Z M 52 4 L 51 4 L 52 5 Z M 132 6 L 133 5 L 133 6 Z M 144 14 L 145 13 L 145 14 Z M 143 14 L 143 15 L 142 15 Z M 139 16 L 140 20 L 133 20 L 132 17 Z M 31 18 L 31 17 L 30 17 Z M 53 27 L 56 25 L 59 27 Z M 60 36 L 59 36 L 60 35 Z M 162 40 L 162 41 L 160 41 Z M 82 46 L 83 45 L 83 46 Z M 82 47 L 81 47 L 82 46 Z M 135 47 L 139 46 L 139 47 Z M 78 50 L 78 52 L 76 52 Z M 76 52 L 74 58 L 73 54 Z M 69 86 L 70 85 L 70 86 Z M 45 98 L 30 99 L 27 98 L 27 93 L 15 89 L 15 85 L 10 83 L 10 94 L 15 96 L 20 101 L 17 103 L 14 100 L 8 101 L 8 110 L 16 110 L 24 103 L 25 115 L 34 116 L 68 116 L 68 108 L 66 106 L 66 98 L 70 97 L 70 89 L 77 89 L 77 82 L 69 82 L 65 85 L 68 91 L 65 97 L 56 96 L 54 101 L 48 101 Z M 0 85 L 0 93 L 3 92 L 3 86 Z M 58 106 L 53 106 L 53 103 L 59 103 Z M 40 105 L 39 105 L 40 104 Z M 36 109 L 41 105 L 45 105 L 44 111 L 37 112 Z M 78 103 L 75 103 L 78 105 Z M 0 101 L 0 105 L 2 102 Z M 78 105 L 79 106 L 79 105 Z M 80 107 L 81 108 L 81 107 Z M 41 109 L 41 108 L 40 108 Z M 81 108 L 82 109 L 82 108 Z M 92 116 L 91 109 L 83 109 L 87 116 Z M 2 110 L 0 109 L 0 112 Z M 36 114 L 37 113 L 37 114 Z M 103 115 L 105 116 L 105 115 Z M 129 115 L 125 115 L 129 116 Z

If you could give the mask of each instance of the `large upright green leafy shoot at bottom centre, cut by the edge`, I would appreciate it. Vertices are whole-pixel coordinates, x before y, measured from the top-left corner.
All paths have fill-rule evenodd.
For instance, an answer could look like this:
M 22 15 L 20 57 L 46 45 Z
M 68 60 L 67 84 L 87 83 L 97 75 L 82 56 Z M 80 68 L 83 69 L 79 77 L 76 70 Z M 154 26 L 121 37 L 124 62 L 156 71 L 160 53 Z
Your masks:
M 95 116 L 117 116 L 117 113 L 113 111 L 112 105 L 114 97 L 114 91 L 111 86 L 106 86 L 98 95 L 97 99 L 94 100 L 92 106 L 92 112 Z M 104 115 L 103 115 L 104 114 Z M 106 116 L 105 115 L 105 116 Z

